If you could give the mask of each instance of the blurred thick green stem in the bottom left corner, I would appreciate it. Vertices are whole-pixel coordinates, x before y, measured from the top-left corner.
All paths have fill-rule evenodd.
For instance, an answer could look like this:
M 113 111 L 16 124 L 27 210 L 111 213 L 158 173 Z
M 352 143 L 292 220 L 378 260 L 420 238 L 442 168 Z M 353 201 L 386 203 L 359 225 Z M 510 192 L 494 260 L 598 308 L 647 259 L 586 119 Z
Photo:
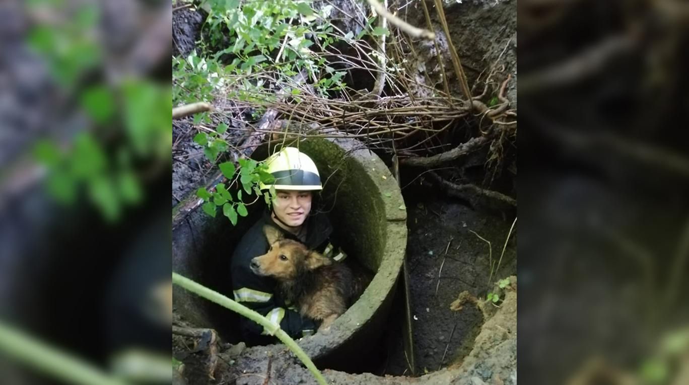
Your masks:
M 77 357 L 65 354 L 30 335 L 0 322 L 0 351 L 37 371 L 72 384 L 125 385 Z

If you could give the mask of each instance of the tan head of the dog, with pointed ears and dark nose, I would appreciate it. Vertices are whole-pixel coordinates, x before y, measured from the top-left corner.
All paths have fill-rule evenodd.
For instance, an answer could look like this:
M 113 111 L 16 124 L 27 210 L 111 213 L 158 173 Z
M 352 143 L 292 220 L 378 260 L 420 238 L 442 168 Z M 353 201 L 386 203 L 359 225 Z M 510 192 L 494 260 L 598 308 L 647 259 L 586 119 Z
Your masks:
M 282 232 L 272 226 L 264 226 L 270 249 L 263 256 L 251 260 L 251 271 L 280 281 L 295 280 L 299 275 L 331 264 L 316 251 L 309 250 L 304 244 L 285 239 Z

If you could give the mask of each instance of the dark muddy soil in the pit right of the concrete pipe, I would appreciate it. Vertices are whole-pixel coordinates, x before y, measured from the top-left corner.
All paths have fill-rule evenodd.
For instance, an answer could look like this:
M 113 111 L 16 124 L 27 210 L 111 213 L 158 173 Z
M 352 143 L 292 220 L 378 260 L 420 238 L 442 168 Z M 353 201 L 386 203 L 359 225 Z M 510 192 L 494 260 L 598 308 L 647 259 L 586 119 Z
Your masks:
M 435 194 L 432 187 L 420 185 L 418 180 L 402 194 L 409 216 L 411 306 L 417 318 L 413 319 L 415 373 L 423 374 L 461 362 L 471 351 L 482 315 L 471 306 L 452 311 L 450 304 L 465 290 L 485 298 L 493 282 L 516 274 L 516 238 L 513 231 L 500 269 L 493 273 L 489 284 L 489 245 L 471 231 L 491 242 L 492 260 L 496 262 L 513 217 L 476 211 L 460 200 Z M 399 337 L 390 351 L 389 364 L 380 374 L 402 375 L 408 365 Z

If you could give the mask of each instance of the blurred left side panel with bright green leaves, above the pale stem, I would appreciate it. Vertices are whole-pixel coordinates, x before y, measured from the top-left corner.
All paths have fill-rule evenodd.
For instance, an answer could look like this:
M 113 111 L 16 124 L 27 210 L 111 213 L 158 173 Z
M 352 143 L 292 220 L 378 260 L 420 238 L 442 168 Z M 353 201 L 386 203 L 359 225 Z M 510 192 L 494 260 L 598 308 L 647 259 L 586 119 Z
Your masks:
M 171 10 L 0 2 L 3 384 L 61 383 L 17 360 L 11 330 L 108 375 L 171 381 Z

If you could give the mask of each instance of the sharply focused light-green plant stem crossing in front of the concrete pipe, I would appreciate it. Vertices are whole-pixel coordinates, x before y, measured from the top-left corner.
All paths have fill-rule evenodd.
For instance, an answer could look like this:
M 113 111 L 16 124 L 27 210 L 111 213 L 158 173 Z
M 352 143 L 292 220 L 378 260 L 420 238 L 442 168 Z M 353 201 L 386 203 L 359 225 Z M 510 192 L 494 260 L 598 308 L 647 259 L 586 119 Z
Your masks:
M 294 340 L 291 339 L 291 337 L 289 337 L 289 335 L 287 335 L 287 333 L 285 333 L 285 331 L 280 329 L 280 325 L 270 322 L 263 315 L 256 313 L 256 311 L 253 311 L 247 308 L 246 306 L 239 304 L 238 302 L 230 300 L 229 298 L 225 297 L 225 295 L 222 295 L 217 291 L 208 289 L 207 287 L 204 287 L 203 285 L 198 284 L 193 280 L 184 277 L 183 275 L 179 275 L 178 273 L 172 273 L 172 282 L 174 284 L 178 284 L 179 286 L 183 287 L 188 291 L 191 291 L 196 295 L 199 295 L 200 297 L 215 302 L 216 304 L 226 307 L 227 309 L 230 309 L 236 313 L 240 313 L 246 318 L 249 318 L 249 320 L 254 321 L 257 324 L 260 324 L 271 335 L 275 335 L 276 337 L 278 337 L 278 339 L 282 341 L 283 344 L 287 345 L 287 347 L 294 352 L 294 354 L 299 358 L 299 360 L 301 360 L 301 362 L 303 362 L 306 365 L 306 367 L 309 368 L 309 371 L 313 373 L 313 377 L 316 377 L 318 384 L 327 385 L 325 378 L 322 374 L 320 374 L 320 371 L 318 371 L 318 368 L 316 368 L 316 365 L 313 364 L 309 356 L 302 350 L 302 348 L 300 348 L 300 346 L 296 342 L 294 342 Z

